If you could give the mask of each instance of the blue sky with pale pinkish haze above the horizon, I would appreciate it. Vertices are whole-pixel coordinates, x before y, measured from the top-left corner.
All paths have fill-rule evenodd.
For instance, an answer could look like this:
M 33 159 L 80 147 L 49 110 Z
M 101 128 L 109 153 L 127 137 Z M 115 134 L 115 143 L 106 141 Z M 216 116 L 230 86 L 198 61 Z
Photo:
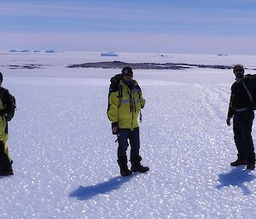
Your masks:
M 0 49 L 256 55 L 256 0 L 1 0 Z

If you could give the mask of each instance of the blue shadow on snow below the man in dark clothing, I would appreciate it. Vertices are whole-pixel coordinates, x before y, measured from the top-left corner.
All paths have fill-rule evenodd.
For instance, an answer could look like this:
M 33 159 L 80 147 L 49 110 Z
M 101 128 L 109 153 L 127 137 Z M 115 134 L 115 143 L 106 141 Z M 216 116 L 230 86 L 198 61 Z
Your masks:
M 244 185 L 245 182 L 252 182 L 256 176 L 253 176 L 249 170 L 243 170 L 241 167 L 236 167 L 228 173 L 218 175 L 218 182 L 221 184 L 217 186 L 218 189 L 222 187 L 240 187 L 244 195 L 251 194 L 249 188 Z

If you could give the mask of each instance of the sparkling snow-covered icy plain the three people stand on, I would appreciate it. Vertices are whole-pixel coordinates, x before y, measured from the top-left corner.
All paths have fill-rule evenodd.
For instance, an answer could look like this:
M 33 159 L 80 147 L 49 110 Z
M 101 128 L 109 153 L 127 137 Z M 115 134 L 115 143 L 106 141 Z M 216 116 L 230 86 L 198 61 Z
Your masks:
M 0 178 L 0 218 L 255 218 L 256 172 L 230 167 L 232 71 L 135 70 L 147 101 L 141 154 L 150 171 L 121 177 L 106 116 L 109 78 L 119 70 L 66 67 L 114 60 L 256 65 L 256 56 L 242 55 L 1 53 L 17 111 L 8 142 L 15 175 Z M 27 64 L 45 66 L 9 69 Z

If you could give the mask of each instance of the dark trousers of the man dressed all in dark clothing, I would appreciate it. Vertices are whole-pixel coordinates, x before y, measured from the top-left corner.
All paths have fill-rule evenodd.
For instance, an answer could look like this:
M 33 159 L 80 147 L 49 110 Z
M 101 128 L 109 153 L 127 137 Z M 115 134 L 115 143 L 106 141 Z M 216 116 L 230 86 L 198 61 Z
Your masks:
M 239 159 L 247 159 L 248 163 L 255 163 L 255 153 L 252 138 L 253 111 L 235 112 L 234 138 Z

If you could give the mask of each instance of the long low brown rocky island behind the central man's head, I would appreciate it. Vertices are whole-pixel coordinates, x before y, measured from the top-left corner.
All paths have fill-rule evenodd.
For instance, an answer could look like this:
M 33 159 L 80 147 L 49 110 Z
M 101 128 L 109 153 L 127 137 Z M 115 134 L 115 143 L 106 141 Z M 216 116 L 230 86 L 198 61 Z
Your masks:
M 223 65 L 195 65 L 186 63 L 127 63 L 123 61 L 101 61 L 101 62 L 89 62 L 83 64 L 74 64 L 67 67 L 94 67 L 94 68 L 123 68 L 125 66 L 131 66 L 133 69 L 172 69 L 183 70 L 194 66 L 201 68 L 217 68 L 217 69 L 231 69 L 233 66 Z

